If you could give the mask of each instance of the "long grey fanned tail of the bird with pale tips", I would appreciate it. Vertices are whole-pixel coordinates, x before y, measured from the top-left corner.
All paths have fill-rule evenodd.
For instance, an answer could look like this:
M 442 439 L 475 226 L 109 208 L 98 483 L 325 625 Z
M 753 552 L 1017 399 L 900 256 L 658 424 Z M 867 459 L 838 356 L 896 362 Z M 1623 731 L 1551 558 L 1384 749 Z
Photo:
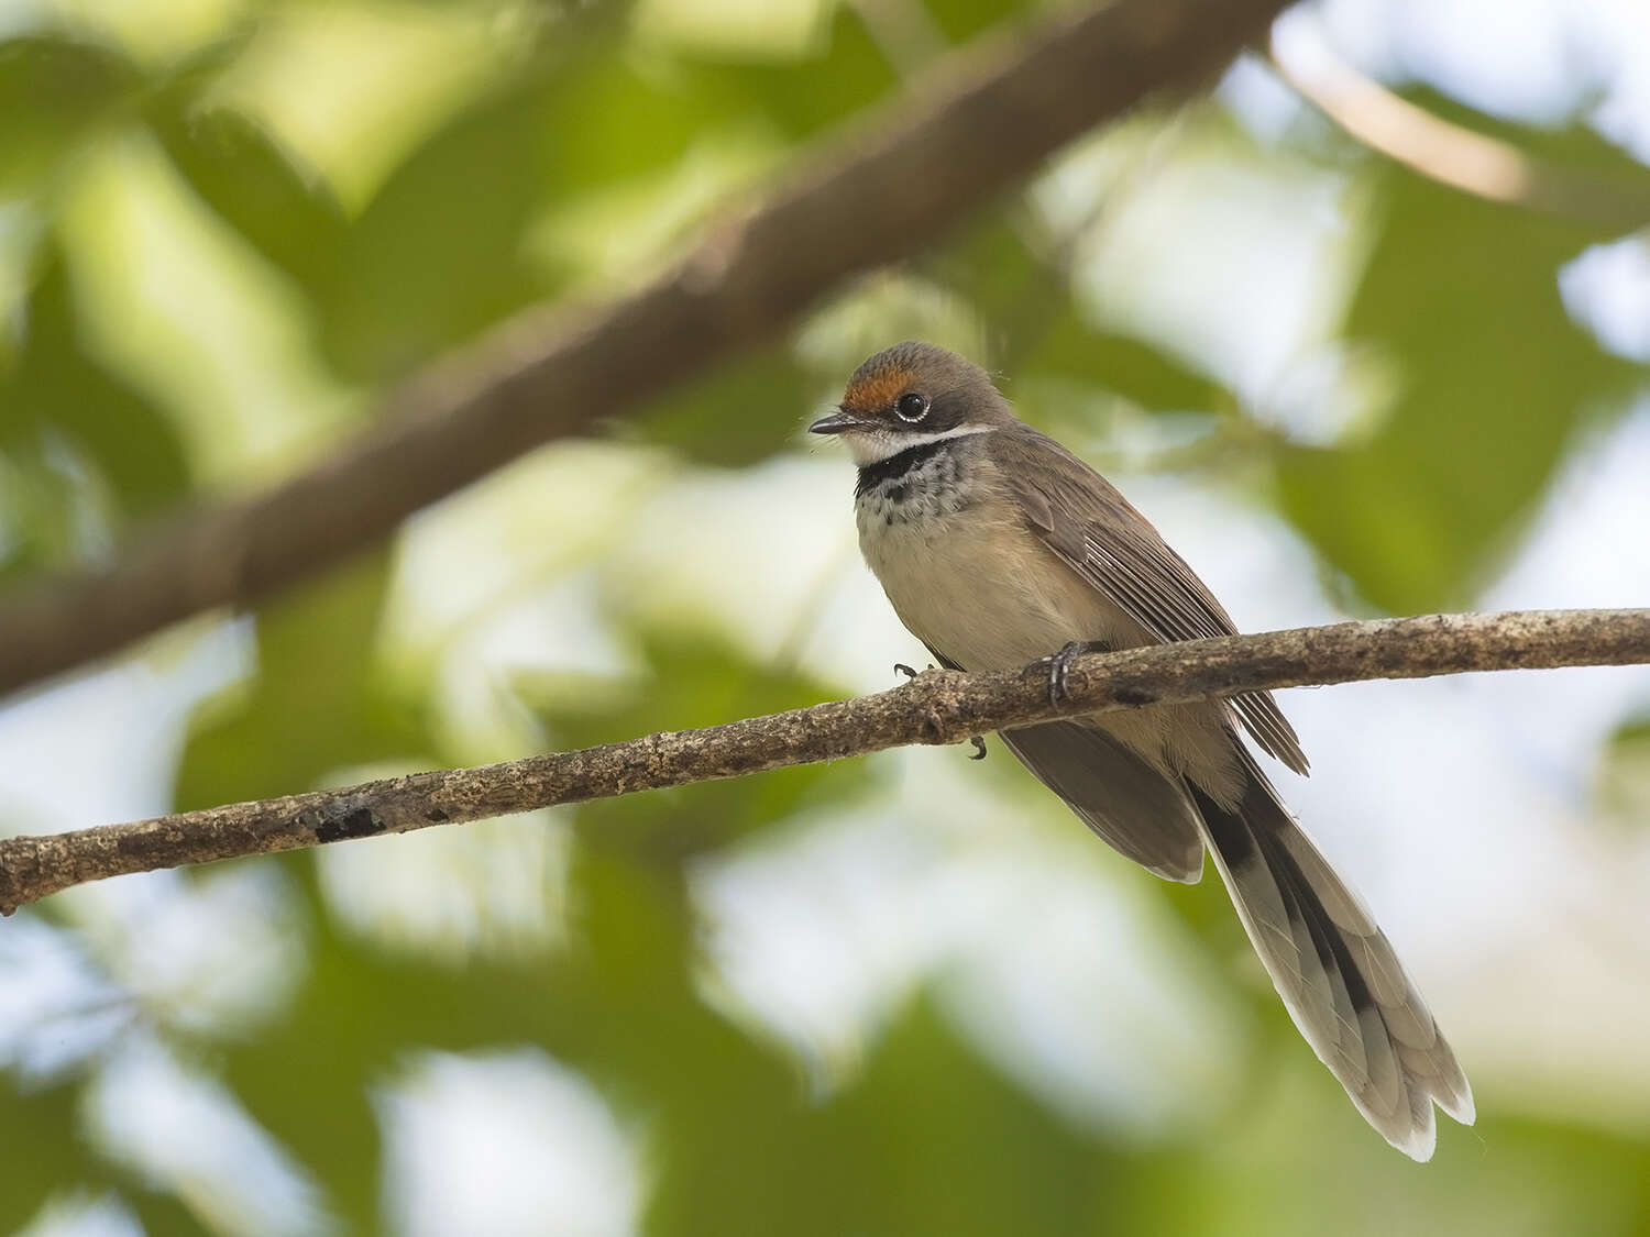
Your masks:
M 1472 1125 L 1467 1077 L 1386 934 L 1295 823 L 1259 767 L 1236 808 L 1188 782 L 1238 917 L 1300 1034 L 1370 1125 L 1429 1159 L 1432 1103 Z

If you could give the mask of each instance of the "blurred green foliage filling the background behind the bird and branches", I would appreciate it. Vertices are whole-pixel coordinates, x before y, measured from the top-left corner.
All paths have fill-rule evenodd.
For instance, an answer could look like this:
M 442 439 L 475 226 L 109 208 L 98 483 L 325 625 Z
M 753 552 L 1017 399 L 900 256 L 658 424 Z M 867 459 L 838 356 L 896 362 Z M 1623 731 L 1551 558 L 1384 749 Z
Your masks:
M 200 414 L 168 402 L 157 365 L 238 374 L 226 389 L 239 391 L 244 407 L 218 409 L 224 427 L 231 416 L 287 416 L 295 389 L 371 407 L 388 384 L 530 302 L 624 287 L 713 203 L 891 96 L 903 66 L 932 53 L 929 41 L 964 41 L 1015 20 L 1005 8 L 1020 7 L 924 0 L 906 8 L 921 18 L 912 26 L 868 23 L 870 7 L 822 5 L 807 38 L 769 48 L 673 43 L 650 28 L 645 5 L 350 7 L 386 31 L 452 23 L 487 53 L 441 106 L 411 76 L 381 84 L 373 106 L 421 120 L 404 124 L 411 137 L 386 158 L 363 145 L 360 157 L 383 175 L 363 173 L 365 190 L 348 193 L 328 178 L 333 155 L 305 148 L 304 134 L 315 132 L 305 109 L 348 127 L 355 96 L 290 54 L 276 74 L 285 86 L 269 89 L 259 61 L 276 54 L 271 31 L 282 20 L 320 21 L 322 7 L 221 5 L 214 28 L 155 5 L 157 26 L 177 26 L 155 43 L 132 25 L 86 15 L 96 8 L 40 5 L 38 20 L 7 18 L 0 35 L 5 587 L 107 553 L 157 513 L 206 493 L 182 432 Z M 916 31 L 909 45 L 901 30 Z M 345 51 L 370 78 L 370 40 Z M 1559 163 L 1642 172 L 1579 129 L 1508 125 L 1439 96 L 1421 99 Z M 1153 160 L 1190 157 L 1168 142 L 1148 145 L 1145 158 L 1125 152 L 1127 175 L 1089 185 L 1091 206 L 1104 209 L 1079 213 L 1069 234 L 1030 198 L 998 203 L 891 277 L 850 289 L 782 343 L 610 427 L 612 437 L 683 472 L 759 465 L 787 449 L 799 421 L 894 323 L 899 333 L 906 323 L 960 330 L 1013 381 L 1028 416 L 1058 432 L 1101 439 L 1145 424 L 1180 445 L 1191 424 L 1195 437 L 1228 449 L 1223 462 L 1236 452 L 1252 500 L 1275 501 L 1358 605 L 1467 602 L 1582 430 L 1617 416 L 1645 384 L 1643 368 L 1607 355 L 1559 297 L 1559 267 L 1614 238 L 1457 195 L 1307 124 L 1266 145 L 1216 112 L 1218 104 L 1191 106 L 1190 125 L 1233 160 L 1348 176 L 1345 242 L 1361 259 L 1343 318 L 1325 333 L 1373 358 L 1383 378 L 1368 426 L 1297 439 L 1252 393 L 1238 394 L 1218 358 L 1165 341 L 1130 320 L 1127 305 L 1119 312 L 1084 294 L 1072 270 L 1089 233 L 1104 231 L 1119 208 L 1107 195 L 1127 208 L 1134 178 L 1150 178 Z M 1132 125 L 1163 120 L 1143 114 Z M 368 134 L 360 142 L 380 140 L 360 129 Z M 144 231 L 86 205 L 92 173 L 130 150 L 148 152 L 185 188 L 188 226 Z M 229 257 L 201 256 L 206 233 L 229 238 Z M 185 275 L 196 279 L 188 287 L 223 297 L 213 305 L 256 300 L 287 343 L 254 346 L 229 338 L 233 325 L 214 333 L 210 305 L 157 335 L 152 315 L 186 317 L 167 295 Z M 111 328 L 99 297 L 120 280 L 132 289 L 122 303 L 150 312 Z M 294 365 L 310 388 L 290 384 Z M 243 439 L 248 483 L 297 463 L 262 455 L 256 435 Z M 554 538 L 556 528 L 541 534 Z M 360 769 L 439 765 L 474 750 L 452 734 L 470 716 L 454 698 L 475 684 L 454 686 L 441 665 L 409 668 L 384 648 L 396 571 L 393 553 L 376 553 L 259 610 L 246 666 L 195 711 L 175 770 L 177 807 L 299 792 Z M 541 584 L 498 582 L 498 605 Z M 624 671 L 487 684 L 507 699 L 510 721 L 498 729 L 515 726 L 513 742 L 596 744 L 842 693 L 731 635 L 660 632 L 622 605 L 602 618 L 629 658 Z M 516 754 L 498 745 L 500 759 Z M 1643 749 L 1643 727 L 1617 747 Z M 302 938 L 290 1001 L 252 1026 L 185 1039 L 109 967 L 119 1034 L 56 1069 L 18 1064 L 5 1075 L 0 1225 L 20 1229 L 74 1191 L 107 1191 L 150 1234 L 380 1230 L 394 1212 L 380 1103 L 389 1080 L 427 1049 L 533 1044 L 594 1084 L 645 1143 L 644 1229 L 660 1237 L 1556 1232 L 1566 1222 L 1572 1232 L 1650 1234 L 1650 1143 L 1627 1135 L 1492 1110 L 1477 1138 L 1495 1151 L 1478 1155 L 1472 1136 L 1447 1131 L 1450 1163 L 1417 1184 L 1422 1178 L 1379 1146 L 1317 1070 L 1270 993 L 1236 981 L 1264 1036 L 1234 1069 L 1256 1070 L 1257 1092 L 1275 1082 L 1312 1097 L 1272 1105 L 1287 1133 L 1251 1131 L 1247 1112 L 1214 1113 L 1208 1128 L 1148 1143 L 1074 1123 L 982 1056 L 931 986 L 898 1004 L 856 1070 L 822 1087 L 706 983 L 691 882 L 696 864 L 751 835 L 878 802 L 886 787 L 873 769 L 794 769 L 582 807 L 571 813 L 566 887 L 538 891 L 563 899 L 568 938 L 478 952 L 464 965 L 343 927 L 318 876 L 325 858 L 264 861 L 280 876 Z M 1642 778 L 1634 785 L 1642 797 Z M 186 899 L 201 877 L 163 889 Z M 1216 952 L 1241 947 L 1213 882 L 1163 897 Z M 487 902 L 472 914 L 488 914 Z M 120 930 L 87 909 L 96 905 L 64 901 L 25 922 L 97 958 L 99 940 Z M 132 930 L 142 934 L 142 922 Z M 229 1089 L 312 1183 L 320 1219 L 228 1206 L 210 1181 L 145 1171 L 109 1151 L 89 1095 L 122 1042 L 148 1039 Z M 0 1046 L 8 1042 L 0 1028 Z M 1526 1211 L 1511 1216 L 1508 1199 L 1528 1201 Z M 1553 1217 L 1564 1219 L 1553 1227 Z

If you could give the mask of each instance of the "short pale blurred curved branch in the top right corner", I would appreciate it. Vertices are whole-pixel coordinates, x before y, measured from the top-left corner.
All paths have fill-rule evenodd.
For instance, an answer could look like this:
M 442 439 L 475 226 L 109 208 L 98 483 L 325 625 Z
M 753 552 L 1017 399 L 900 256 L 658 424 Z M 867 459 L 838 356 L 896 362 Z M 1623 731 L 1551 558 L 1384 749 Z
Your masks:
M 1308 21 L 1272 35 L 1277 73 L 1346 134 L 1427 180 L 1488 201 L 1630 231 L 1650 221 L 1650 178 L 1569 168 L 1444 120 L 1336 56 Z

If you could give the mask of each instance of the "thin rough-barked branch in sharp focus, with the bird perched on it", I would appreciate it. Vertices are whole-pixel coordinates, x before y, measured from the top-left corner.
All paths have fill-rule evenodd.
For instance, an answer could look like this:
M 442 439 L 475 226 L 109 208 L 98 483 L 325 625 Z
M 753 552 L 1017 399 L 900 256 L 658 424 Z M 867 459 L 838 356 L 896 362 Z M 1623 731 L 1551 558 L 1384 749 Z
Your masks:
M 0 841 L 0 912 L 107 876 L 408 833 L 906 744 L 962 742 L 1058 714 L 1308 683 L 1634 663 L 1650 663 L 1650 610 L 1429 615 L 1089 653 L 1072 663 L 1069 699 L 1058 709 L 1048 701 L 1041 666 L 995 675 L 937 670 L 874 696 L 701 731 L 10 838 Z

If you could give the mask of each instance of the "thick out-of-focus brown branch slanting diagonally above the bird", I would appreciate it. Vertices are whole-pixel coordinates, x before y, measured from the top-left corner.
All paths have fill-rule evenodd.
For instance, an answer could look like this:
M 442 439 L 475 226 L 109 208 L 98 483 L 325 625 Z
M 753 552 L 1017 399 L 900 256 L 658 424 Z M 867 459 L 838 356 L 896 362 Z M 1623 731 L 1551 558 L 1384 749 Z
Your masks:
M 378 429 L 312 472 L 186 513 L 117 562 L 10 600 L 0 693 L 257 600 L 523 452 L 754 346 L 845 275 L 931 244 L 1101 120 L 1219 69 L 1282 8 L 1120 0 L 947 56 L 635 295 L 508 323 L 412 381 Z

